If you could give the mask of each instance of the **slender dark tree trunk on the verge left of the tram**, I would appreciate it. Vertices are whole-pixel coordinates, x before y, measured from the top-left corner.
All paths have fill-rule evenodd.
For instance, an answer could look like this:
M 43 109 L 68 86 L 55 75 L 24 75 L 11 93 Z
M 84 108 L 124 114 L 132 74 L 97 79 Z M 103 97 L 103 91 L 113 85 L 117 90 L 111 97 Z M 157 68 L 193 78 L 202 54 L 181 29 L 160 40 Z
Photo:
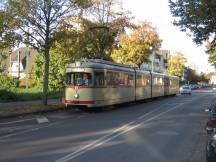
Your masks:
M 47 105 L 47 95 L 48 95 L 48 83 L 49 83 L 49 41 L 45 43 L 45 73 L 44 73 L 44 82 L 43 82 L 43 98 L 42 102 L 44 105 Z

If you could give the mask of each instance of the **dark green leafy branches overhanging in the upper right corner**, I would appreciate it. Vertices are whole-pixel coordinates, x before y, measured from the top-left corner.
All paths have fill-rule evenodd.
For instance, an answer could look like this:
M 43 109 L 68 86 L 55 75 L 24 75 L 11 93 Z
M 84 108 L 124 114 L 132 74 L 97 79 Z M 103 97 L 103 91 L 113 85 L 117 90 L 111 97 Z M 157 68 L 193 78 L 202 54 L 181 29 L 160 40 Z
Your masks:
M 169 0 L 174 25 L 189 34 L 197 44 L 209 40 L 216 46 L 216 1 L 215 0 Z

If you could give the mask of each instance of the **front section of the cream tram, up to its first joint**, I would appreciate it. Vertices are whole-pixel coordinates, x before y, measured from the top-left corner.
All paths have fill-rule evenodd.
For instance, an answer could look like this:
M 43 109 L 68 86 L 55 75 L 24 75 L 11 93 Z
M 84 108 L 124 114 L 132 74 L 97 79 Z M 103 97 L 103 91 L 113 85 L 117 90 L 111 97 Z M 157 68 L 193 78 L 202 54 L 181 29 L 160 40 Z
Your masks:
M 135 70 L 104 60 L 66 66 L 65 105 L 102 107 L 135 101 Z

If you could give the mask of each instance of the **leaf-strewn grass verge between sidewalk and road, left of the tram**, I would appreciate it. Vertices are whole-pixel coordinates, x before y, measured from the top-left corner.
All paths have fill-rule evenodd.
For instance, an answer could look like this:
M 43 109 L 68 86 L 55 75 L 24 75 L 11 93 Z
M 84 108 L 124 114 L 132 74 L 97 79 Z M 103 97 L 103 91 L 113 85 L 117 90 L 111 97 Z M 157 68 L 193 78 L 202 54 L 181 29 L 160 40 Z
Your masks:
M 0 109 L 0 118 L 7 118 L 7 117 L 15 117 L 15 116 L 23 116 L 29 114 L 37 114 L 49 111 L 57 111 L 63 110 L 65 106 L 63 104 L 53 104 L 53 105 L 28 105 L 22 108 L 1 108 Z

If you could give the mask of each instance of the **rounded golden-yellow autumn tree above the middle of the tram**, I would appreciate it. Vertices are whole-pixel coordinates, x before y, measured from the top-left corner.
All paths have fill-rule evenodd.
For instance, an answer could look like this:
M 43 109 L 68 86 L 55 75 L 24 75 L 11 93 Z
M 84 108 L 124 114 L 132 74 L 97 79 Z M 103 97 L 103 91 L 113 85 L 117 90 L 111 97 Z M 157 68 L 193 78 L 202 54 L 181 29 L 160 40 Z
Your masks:
M 148 60 L 153 50 L 159 49 L 161 40 L 149 22 L 141 22 L 131 34 L 119 37 L 119 47 L 113 51 L 112 58 L 120 63 L 140 65 Z

